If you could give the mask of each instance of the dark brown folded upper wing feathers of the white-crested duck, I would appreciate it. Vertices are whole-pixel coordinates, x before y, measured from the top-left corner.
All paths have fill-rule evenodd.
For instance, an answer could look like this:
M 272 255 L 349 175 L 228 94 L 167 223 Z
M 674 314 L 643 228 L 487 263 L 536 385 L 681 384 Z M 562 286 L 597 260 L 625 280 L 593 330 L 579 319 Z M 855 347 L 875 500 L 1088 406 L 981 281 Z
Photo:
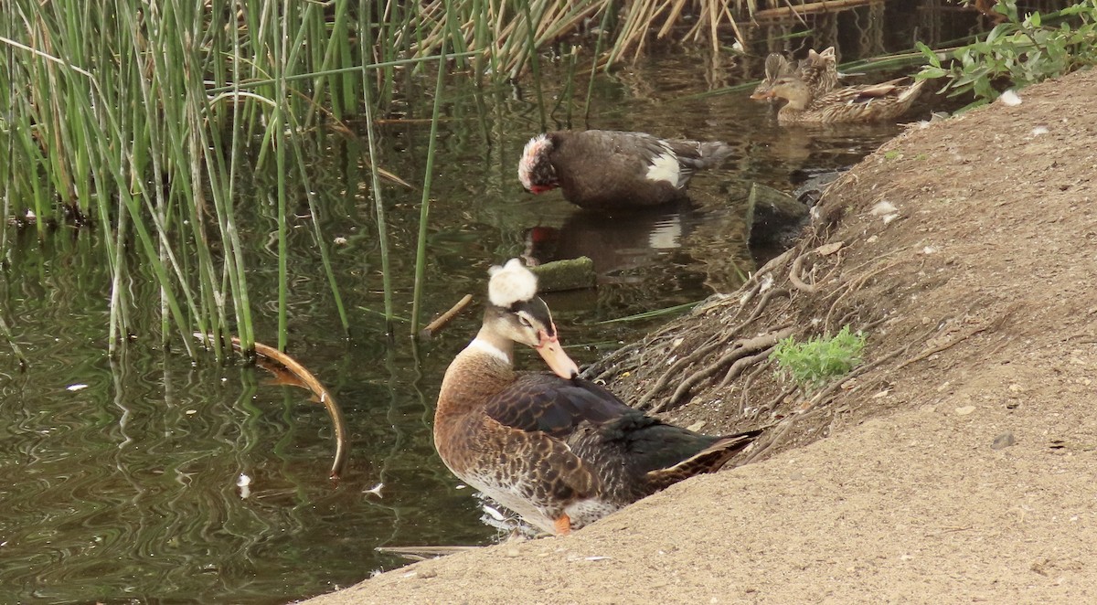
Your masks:
M 565 380 L 548 374 L 520 376 L 505 391 L 488 399 L 484 409 L 501 424 L 542 431 L 557 438 L 566 438 L 584 422 L 600 425 L 640 413 L 589 380 Z

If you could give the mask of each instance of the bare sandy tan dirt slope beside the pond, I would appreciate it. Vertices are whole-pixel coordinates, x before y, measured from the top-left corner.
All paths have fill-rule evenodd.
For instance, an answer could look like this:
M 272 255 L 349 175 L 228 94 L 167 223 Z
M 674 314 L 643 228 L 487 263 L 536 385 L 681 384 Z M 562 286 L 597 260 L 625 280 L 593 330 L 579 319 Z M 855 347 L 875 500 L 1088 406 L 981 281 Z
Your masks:
M 805 276 L 863 279 L 870 362 L 911 347 L 765 459 L 309 603 L 1097 602 L 1097 71 L 1021 99 L 914 127 L 828 192 L 815 246 L 846 248 Z M 671 418 L 714 431 L 714 401 Z

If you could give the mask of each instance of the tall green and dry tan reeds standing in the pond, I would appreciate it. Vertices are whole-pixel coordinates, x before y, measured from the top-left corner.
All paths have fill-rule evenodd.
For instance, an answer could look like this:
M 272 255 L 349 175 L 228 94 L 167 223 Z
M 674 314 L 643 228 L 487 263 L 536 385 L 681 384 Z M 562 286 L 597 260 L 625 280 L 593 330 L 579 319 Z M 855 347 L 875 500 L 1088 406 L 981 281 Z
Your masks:
M 192 332 L 217 334 L 215 351 L 226 355 L 230 335 L 239 336 L 244 351 L 253 350 L 255 295 L 247 274 L 255 261 L 240 233 L 248 212 L 242 204 L 268 199 L 278 208 L 278 344 L 285 349 L 291 196 L 307 198 L 313 248 L 343 329 L 349 326 L 328 259 L 330 238 L 316 220 L 323 208 L 308 193 L 304 150 L 320 121 L 338 126 L 364 114 L 376 157 L 373 117 L 400 94 L 400 78 L 414 70 L 439 69 L 436 99 L 443 76 L 455 70 L 499 81 L 530 73 L 539 85 L 539 54 L 567 36 L 597 39 L 598 66 L 634 58 L 651 37 L 671 33 L 715 47 L 719 30 L 734 30 L 735 19 L 778 5 L 8 0 L 0 7 L 0 89 L 13 93 L 0 113 L 3 212 L 8 219 L 33 217 L 42 237 L 60 222 L 101 231 L 112 274 L 112 353 L 152 329 L 165 347 L 177 343 L 191 354 Z M 565 56 L 574 78 L 580 72 L 577 53 Z M 574 83 L 568 85 L 570 98 Z M 540 95 L 538 106 L 544 122 Z M 438 115 L 436 106 L 436 127 Z M 382 180 L 402 181 L 384 167 L 372 171 L 391 326 Z M 272 185 L 256 189 L 261 183 Z M 429 176 L 423 185 L 426 221 Z M 7 247 L 7 236 L 0 247 Z M 420 250 L 417 281 L 423 258 Z M 158 285 L 161 309 L 159 326 L 151 328 L 131 318 L 137 301 L 129 285 L 148 277 Z M 416 316 L 420 290 L 418 284 Z

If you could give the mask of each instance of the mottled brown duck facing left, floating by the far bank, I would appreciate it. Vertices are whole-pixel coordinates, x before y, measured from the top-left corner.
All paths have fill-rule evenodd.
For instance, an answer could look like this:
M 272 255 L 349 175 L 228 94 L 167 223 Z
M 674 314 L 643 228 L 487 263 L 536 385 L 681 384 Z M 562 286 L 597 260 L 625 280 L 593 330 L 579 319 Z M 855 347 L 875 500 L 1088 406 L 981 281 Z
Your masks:
M 906 82 L 897 78 L 879 84 L 846 87 L 813 96 L 808 84 L 796 75 L 778 78 L 767 98 L 788 101 L 778 112 L 779 124 L 837 124 L 895 119 L 907 112 L 921 93 L 926 80 Z

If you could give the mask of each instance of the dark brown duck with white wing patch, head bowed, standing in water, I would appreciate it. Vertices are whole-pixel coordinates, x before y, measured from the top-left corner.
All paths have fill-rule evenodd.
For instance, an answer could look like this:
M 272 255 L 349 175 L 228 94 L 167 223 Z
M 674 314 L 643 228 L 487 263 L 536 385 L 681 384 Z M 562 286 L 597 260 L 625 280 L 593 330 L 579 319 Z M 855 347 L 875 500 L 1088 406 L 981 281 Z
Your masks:
M 518 180 L 534 194 L 559 187 L 565 199 L 590 210 L 646 208 L 685 199 L 693 173 L 719 164 L 732 152 L 722 141 L 556 130 L 525 144 Z

